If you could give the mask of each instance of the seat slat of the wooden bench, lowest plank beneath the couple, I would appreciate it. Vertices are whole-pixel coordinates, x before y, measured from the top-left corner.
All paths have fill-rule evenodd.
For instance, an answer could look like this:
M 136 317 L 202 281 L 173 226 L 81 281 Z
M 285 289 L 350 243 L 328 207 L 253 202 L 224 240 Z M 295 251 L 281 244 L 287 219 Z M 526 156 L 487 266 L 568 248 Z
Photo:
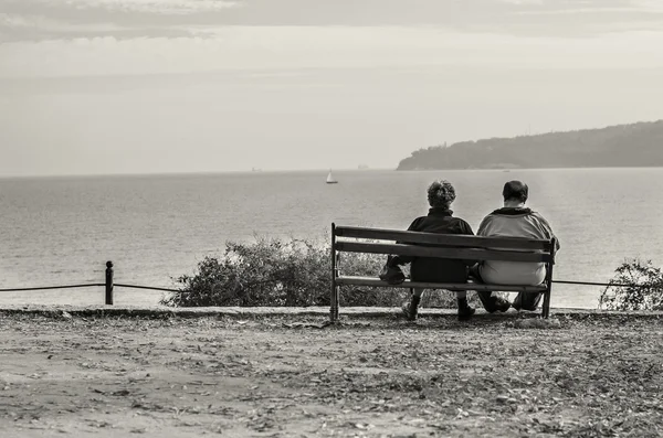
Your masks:
M 481 282 L 444 284 L 406 280 L 400 285 L 389 285 L 376 277 L 339 276 L 336 278 L 338 285 L 373 286 L 385 288 L 422 288 L 422 289 L 448 289 L 448 290 L 476 290 L 476 291 L 501 291 L 501 292 L 545 292 L 546 286 L 514 286 L 514 285 L 484 285 Z

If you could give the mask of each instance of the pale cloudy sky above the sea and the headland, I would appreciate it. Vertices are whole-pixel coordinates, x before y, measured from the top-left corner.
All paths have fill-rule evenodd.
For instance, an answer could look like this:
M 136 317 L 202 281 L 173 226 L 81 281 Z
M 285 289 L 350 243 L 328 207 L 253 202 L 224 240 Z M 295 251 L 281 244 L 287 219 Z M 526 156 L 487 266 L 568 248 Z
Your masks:
M 661 77 L 659 0 L 0 0 L 0 177 L 393 169 Z

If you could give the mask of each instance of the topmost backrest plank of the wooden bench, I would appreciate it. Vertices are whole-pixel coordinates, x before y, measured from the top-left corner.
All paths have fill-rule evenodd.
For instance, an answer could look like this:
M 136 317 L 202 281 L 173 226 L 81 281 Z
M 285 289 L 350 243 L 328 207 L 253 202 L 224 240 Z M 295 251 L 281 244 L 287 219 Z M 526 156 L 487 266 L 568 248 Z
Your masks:
M 551 248 L 549 241 L 523 237 L 467 236 L 457 234 L 408 232 L 402 229 L 365 228 L 358 226 L 337 226 L 335 228 L 335 234 L 339 237 L 371 238 L 413 244 L 439 244 L 486 249 L 504 248 L 550 252 Z

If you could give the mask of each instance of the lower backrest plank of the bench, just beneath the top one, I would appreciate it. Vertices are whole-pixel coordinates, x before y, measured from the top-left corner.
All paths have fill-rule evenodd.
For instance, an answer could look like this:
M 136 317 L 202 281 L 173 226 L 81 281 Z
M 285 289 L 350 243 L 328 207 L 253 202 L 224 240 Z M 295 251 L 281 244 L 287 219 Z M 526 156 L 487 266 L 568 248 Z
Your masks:
M 348 253 L 370 254 L 398 254 L 414 257 L 456 258 L 463 260 L 502 260 L 502 261 L 537 261 L 547 263 L 551 260 L 550 254 L 522 253 L 515 250 L 499 249 L 474 249 L 474 248 L 440 248 L 431 246 L 417 246 L 403 244 L 365 243 L 365 242 L 340 242 L 335 245 L 336 250 Z

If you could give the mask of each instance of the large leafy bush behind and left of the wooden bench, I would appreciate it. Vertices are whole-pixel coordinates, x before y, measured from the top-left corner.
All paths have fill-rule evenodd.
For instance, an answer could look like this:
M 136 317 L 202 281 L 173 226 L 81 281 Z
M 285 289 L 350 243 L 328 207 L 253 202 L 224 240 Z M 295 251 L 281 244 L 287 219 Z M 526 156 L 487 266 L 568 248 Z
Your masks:
M 386 256 L 344 253 L 344 274 L 376 277 Z M 332 264 L 328 244 L 311 239 L 257 237 L 228 242 L 220 257 L 204 257 L 192 275 L 176 278 L 179 291 L 161 300 L 172 307 L 329 306 Z M 470 293 L 473 297 L 474 293 Z M 340 287 L 340 306 L 400 306 L 408 289 Z M 423 307 L 455 308 L 455 295 L 428 292 Z

